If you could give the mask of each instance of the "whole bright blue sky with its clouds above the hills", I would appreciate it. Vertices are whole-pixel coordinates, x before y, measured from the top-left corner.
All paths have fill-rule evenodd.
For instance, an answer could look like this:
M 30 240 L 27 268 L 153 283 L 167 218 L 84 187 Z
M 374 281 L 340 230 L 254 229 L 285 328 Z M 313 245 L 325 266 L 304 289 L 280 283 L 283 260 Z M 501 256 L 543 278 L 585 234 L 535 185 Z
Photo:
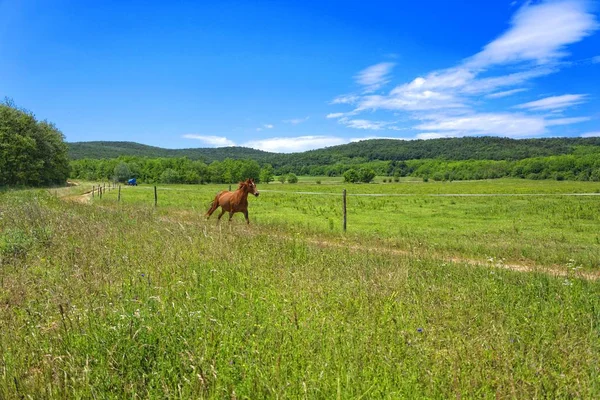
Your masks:
M 0 97 L 67 141 L 293 152 L 600 136 L 600 4 L 0 0 Z

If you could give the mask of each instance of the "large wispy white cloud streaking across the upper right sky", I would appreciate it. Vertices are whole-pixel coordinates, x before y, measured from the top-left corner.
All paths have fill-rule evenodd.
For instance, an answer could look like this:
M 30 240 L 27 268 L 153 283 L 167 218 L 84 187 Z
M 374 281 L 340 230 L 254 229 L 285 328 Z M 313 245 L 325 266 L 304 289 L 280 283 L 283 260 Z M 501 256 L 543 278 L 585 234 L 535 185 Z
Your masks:
M 395 115 L 407 113 L 409 118 L 421 121 L 413 128 L 425 131 L 418 135 L 427 137 L 537 136 L 546 133 L 551 126 L 581 122 L 583 117 L 550 120 L 528 113 L 562 110 L 585 101 L 586 95 L 530 101 L 516 106 L 522 110 L 518 113 L 513 112 L 514 109 L 489 112 L 490 107 L 485 106 L 486 99 L 524 92 L 528 90 L 522 87 L 524 84 L 557 73 L 567 65 L 564 62 L 567 47 L 599 28 L 590 8 L 591 3 L 586 0 L 526 1 L 517 9 L 504 33 L 456 66 L 396 85 L 387 94 L 373 94 L 369 91 L 389 81 L 388 73 L 393 66 L 377 64 L 356 76 L 367 90 L 339 96 L 332 103 L 353 106 L 349 111 L 352 115 L 377 110 L 393 111 Z M 484 107 L 486 112 L 477 110 Z M 440 115 L 440 111 L 444 114 Z M 349 121 L 361 121 L 358 126 L 369 126 L 362 123 L 363 119 L 348 116 L 348 113 L 332 113 L 328 118 L 337 118 L 348 127 L 357 127 Z M 393 129 L 393 125 L 380 123 L 374 129 Z

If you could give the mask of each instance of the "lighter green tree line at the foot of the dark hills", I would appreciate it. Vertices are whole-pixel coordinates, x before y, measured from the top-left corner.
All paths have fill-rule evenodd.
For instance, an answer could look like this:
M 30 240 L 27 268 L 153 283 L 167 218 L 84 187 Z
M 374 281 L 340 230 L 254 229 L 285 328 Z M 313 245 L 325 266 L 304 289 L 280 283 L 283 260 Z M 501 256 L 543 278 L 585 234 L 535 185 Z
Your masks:
M 307 175 L 342 176 L 347 182 L 371 182 L 375 176 L 394 178 L 413 176 L 424 180 L 452 181 L 515 177 L 523 179 L 555 179 L 600 181 L 600 152 L 523 160 L 408 160 L 336 163 L 313 168 Z M 75 160 L 71 177 L 83 180 L 125 181 L 137 178 L 145 183 L 236 183 L 247 178 L 268 183 L 279 176 L 282 182 L 297 182 L 290 169 L 275 169 L 257 161 L 225 159 L 206 164 L 180 158 L 119 157 L 108 160 Z M 391 181 L 391 179 L 390 179 Z

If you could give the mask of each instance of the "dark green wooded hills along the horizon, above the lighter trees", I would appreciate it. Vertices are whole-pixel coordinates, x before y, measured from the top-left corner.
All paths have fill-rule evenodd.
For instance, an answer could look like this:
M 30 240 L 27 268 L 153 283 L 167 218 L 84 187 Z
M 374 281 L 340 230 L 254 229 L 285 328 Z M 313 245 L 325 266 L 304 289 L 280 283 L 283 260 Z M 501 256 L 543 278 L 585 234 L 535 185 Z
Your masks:
M 531 157 L 573 154 L 583 147 L 600 150 L 600 138 L 508 139 L 498 137 L 465 137 L 430 140 L 372 139 L 303 153 L 269 153 L 246 147 L 163 149 L 133 142 L 69 143 L 71 159 L 102 159 L 119 156 L 187 157 L 205 163 L 225 158 L 253 159 L 294 168 L 331 165 L 349 159 L 374 160 L 522 160 Z M 578 150 L 579 149 L 579 150 Z

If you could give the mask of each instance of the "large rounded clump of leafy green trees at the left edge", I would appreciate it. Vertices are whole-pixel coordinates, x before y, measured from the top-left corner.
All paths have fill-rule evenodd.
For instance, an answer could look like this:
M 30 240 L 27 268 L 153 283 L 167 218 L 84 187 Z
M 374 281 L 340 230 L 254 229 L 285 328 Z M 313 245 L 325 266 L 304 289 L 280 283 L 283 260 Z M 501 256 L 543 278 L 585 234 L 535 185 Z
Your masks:
M 0 186 L 66 183 L 68 147 L 48 121 L 38 121 L 12 101 L 0 103 Z

